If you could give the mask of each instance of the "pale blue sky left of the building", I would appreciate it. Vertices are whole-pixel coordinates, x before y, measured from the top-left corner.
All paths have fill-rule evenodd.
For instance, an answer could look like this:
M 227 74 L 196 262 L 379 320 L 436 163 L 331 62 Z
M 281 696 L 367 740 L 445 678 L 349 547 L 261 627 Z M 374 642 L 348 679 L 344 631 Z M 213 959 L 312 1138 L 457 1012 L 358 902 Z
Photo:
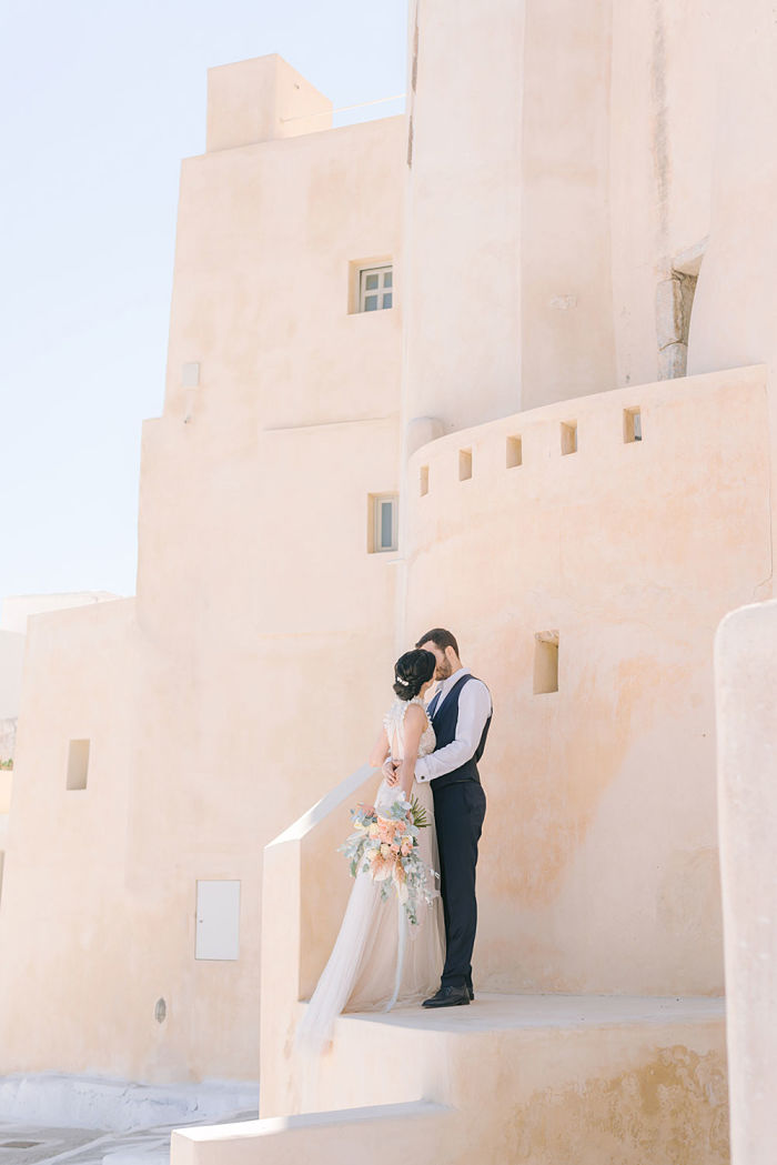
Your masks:
M 0 0 L 0 596 L 134 593 L 209 66 L 280 52 L 335 107 L 370 101 L 404 91 L 405 21 L 407 0 Z

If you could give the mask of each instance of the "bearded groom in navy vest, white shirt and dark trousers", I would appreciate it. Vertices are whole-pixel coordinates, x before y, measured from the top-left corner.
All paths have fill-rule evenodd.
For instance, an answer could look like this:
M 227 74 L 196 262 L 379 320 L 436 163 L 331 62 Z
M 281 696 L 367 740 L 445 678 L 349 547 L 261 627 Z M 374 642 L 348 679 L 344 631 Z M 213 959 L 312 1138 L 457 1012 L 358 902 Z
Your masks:
M 490 727 L 492 699 L 486 685 L 461 665 L 459 644 L 451 631 L 436 627 L 416 647 L 432 652 L 437 659 L 435 679 L 439 680 L 426 709 L 437 744 L 433 753 L 416 762 L 416 781 L 431 782 L 435 797 L 446 942 L 440 989 L 424 1000 L 423 1005 L 454 1008 L 474 998 L 475 866 L 486 816 L 478 761 Z M 390 758 L 383 765 L 383 775 L 389 784 L 396 784 Z

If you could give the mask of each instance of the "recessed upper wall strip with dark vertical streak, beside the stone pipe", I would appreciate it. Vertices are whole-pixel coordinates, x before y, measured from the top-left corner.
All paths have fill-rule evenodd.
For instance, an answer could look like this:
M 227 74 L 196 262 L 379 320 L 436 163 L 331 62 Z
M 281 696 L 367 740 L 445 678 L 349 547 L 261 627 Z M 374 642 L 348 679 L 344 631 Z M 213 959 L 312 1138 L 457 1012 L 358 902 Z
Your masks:
M 613 322 L 617 383 L 659 375 L 658 285 L 711 231 L 713 160 L 720 116 L 719 61 L 730 41 L 719 6 L 705 0 L 614 3 L 610 100 Z M 747 19 L 747 17 L 746 17 Z M 737 30 L 739 35 L 739 30 Z M 711 278 L 701 260 L 697 297 Z M 688 370 L 713 372 L 763 353 L 699 365 L 698 299 L 691 313 Z

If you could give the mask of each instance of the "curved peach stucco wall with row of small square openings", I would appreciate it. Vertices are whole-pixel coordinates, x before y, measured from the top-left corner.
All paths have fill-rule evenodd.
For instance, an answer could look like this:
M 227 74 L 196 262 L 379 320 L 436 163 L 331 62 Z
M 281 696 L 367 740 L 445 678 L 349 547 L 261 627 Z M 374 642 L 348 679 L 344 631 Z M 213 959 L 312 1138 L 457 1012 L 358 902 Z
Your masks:
M 770 573 L 764 379 L 566 402 L 410 463 L 407 638 L 452 627 L 494 694 L 483 988 L 722 990 L 712 644 Z M 634 405 L 644 439 L 627 444 Z M 579 449 L 561 456 L 570 421 Z M 507 468 L 516 435 L 523 465 Z M 534 694 L 535 634 L 550 630 L 559 690 Z

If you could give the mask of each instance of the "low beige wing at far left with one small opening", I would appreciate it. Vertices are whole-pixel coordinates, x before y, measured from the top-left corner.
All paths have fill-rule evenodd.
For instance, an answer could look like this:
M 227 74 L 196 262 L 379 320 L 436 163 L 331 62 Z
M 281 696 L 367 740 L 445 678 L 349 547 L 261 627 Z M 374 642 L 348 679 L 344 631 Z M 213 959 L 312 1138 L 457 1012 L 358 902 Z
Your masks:
M 125 885 L 132 627 L 132 600 L 30 623 L 0 909 L 0 1072 L 121 1074 L 148 1039 L 133 994 L 153 948 L 136 941 Z M 71 739 L 91 741 L 85 790 L 66 789 Z

